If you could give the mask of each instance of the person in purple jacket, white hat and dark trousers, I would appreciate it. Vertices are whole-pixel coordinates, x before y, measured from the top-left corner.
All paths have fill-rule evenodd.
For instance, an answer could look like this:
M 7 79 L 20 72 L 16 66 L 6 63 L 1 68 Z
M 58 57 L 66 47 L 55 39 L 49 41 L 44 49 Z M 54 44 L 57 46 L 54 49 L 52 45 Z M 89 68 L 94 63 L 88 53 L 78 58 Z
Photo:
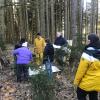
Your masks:
M 22 44 L 22 47 L 15 49 L 13 55 L 17 56 L 16 61 L 16 75 L 17 82 L 28 79 L 28 67 L 27 64 L 32 60 L 32 52 L 27 47 L 28 43 Z M 23 77 L 22 77 L 23 75 Z

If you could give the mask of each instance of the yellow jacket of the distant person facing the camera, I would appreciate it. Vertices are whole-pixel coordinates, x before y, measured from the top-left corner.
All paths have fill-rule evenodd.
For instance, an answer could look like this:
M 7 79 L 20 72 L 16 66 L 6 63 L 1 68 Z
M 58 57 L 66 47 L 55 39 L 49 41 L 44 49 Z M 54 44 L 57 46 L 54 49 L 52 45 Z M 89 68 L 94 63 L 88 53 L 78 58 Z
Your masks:
M 41 37 L 40 39 L 36 38 L 34 40 L 34 49 L 36 54 L 43 53 L 44 47 L 45 47 L 44 38 Z

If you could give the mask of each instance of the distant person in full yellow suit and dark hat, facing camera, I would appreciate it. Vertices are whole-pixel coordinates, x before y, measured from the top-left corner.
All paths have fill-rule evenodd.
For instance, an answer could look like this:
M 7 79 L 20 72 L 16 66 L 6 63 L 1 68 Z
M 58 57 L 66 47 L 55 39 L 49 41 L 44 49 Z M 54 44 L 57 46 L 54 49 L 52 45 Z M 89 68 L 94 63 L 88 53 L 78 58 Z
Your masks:
M 42 38 L 41 33 L 37 33 L 37 37 L 34 40 L 34 52 L 36 54 L 37 65 L 42 64 L 44 48 L 45 40 Z

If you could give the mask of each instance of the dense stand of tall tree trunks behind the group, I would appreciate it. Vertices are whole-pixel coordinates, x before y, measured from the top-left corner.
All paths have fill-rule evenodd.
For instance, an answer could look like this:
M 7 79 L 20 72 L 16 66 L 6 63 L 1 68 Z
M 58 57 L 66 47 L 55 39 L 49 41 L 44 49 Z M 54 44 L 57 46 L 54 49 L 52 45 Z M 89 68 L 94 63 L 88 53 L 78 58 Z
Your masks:
M 21 37 L 33 43 L 37 32 L 54 41 L 61 31 L 77 45 L 91 32 L 99 35 L 99 6 L 99 0 L 0 0 L 0 36 L 7 43 Z

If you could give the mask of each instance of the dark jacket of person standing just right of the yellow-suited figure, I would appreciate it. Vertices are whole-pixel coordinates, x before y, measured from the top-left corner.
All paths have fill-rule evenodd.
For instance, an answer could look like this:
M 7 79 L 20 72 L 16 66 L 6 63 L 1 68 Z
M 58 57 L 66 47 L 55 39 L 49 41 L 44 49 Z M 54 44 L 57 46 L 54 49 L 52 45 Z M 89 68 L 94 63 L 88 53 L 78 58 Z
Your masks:
M 45 63 L 45 61 L 48 60 L 48 57 L 50 59 L 50 62 L 53 62 L 53 60 L 54 60 L 54 48 L 53 48 L 53 45 L 51 43 L 47 43 L 45 46 L 43 63 Z

